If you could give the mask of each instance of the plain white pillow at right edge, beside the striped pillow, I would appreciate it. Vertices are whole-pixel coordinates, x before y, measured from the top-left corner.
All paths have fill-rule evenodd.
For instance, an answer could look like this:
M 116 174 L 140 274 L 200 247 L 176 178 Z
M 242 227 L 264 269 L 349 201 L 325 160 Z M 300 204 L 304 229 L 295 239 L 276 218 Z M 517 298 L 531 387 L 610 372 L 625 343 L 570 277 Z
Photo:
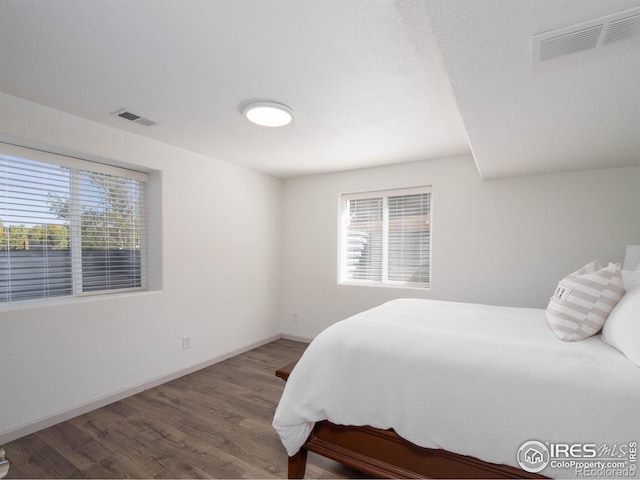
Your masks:
M 640 288 L 625 293 L 602 329 L 602 340 L 640 367 Z

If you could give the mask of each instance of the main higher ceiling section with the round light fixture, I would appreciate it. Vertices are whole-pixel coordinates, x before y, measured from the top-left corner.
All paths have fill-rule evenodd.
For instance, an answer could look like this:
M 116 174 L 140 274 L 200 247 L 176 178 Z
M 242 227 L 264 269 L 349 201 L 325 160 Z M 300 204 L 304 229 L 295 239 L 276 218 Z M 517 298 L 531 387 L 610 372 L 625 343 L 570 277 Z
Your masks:
M 419 2 L 3 0 L 0 45 L 6 93 L 275 176 L 469 152 Z

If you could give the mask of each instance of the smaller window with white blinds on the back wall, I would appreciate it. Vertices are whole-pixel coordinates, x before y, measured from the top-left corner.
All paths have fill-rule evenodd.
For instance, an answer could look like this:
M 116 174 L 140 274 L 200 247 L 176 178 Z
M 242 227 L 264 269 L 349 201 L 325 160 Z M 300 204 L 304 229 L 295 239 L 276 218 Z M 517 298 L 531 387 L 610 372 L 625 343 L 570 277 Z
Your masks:
M 341 197 L 340 282 L 429 287 L 431 189 Z

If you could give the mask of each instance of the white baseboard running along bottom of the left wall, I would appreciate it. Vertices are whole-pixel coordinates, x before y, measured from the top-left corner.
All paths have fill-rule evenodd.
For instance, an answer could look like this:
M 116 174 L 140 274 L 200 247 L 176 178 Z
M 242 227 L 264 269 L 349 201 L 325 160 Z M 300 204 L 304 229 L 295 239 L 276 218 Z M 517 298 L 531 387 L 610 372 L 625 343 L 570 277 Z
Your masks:
M 157 387 L 158 385 L 169 382 L 171 380 L 175 380 L 176 378 L 180 378 L 184 375 L 188 375 L 202 368 L 209 367 L 216 363 L 222 362 L 231 357 L 235 357 L 236 355 L 240 355 L 242 353 L 248 352 L 249 350 L 253 350 L 254 348 L 261 347 L 262 345 L 271 343 L 280 338 L 288 338 L 288 337 L 285 337 L 282 335 L 274 335 L 264 340 L 259 340 L 249 345 L 245 345 L 243 347 L 237 348 L 231 352 L 225 353 L 224 355 L 219 355 L 217 357 L 211 358 L 205 362 L 200 362 L 195 365 L 191 365 L 189 367 L 176 370 L 174 372 L 168 373 L 167 375 L 162 375 L 160 377 L 153 378 L 151 380 L 142 382 L 132 387 L 125 388 L 123 390 L 110 393 L 108 395 L 96 398 L 95 400 L 91 400 L 81 405 L 71 407 L 69 409 L 63 410 L 58 413 L 54 413 L 53 415 L 48 415 L 46 417 L 39 418 L 38 420 L 34 420 L 33 422 L 27 423 L 20 427 L 1 432 L 0 446 L 4 445 L 5 443 L 12 442 L 13 440 L 16 440 L 18 438 L 24 437 L 26 435 L 35 433 L 44 428 L 48 428 L 53 425 L 56 425 L 57 423 L 64 422 L 65 420 L 69 420 L 70 418 L 77 417 L 79 415 L 88 413 L 97 408 L 101 408 L 106 405 L 109 405 L 110 403 L 117 402 L 118 400 L 122 400 L 124 398 L 130 397 L 131 395 L 135 395 L 136 393 L 144 392 L 145 390 L 148 390 L 150 388 Z M 305 341 L 305 340 L 300 340 L 300 341 Z

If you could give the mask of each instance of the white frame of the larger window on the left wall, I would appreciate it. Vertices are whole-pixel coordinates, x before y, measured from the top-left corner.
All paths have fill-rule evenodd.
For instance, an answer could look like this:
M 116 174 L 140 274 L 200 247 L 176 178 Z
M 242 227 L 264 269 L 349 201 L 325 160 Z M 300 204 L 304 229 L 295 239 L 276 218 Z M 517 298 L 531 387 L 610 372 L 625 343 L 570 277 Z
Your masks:
M 0 155 L 15 157 L 18 159 L 23 159 L 27 161 L 36 161 L 47 163 L 50 165 L 60 166 L 60 167 L 68 167 L 70 169 L 75 170 L 69 176 L 69 202 L 71 206 L 71 214 L 69 219 L 69 255 L 70 261 L 72 264 L 71 268 L 71 283 L 72 283 L 72 293 L 65 295 L 54 295 L 54 296 L 41 296 L 41 297 L 33 297 L 33 298 L 20 298 L 17 300 L 8 300 L 0 302 L 0 308 L 6 308 L 11 305 L 20 305 L 20 304 L 28 304 L 28 303 L 39 303 L 39 302 L 60 302 L 64 300 L 70 300 L 74 298 L 82 298 L 82 297 L 91 297 L 91 296 L 99 296 L 99 295 L 116 295 L 122 293 L 130 293 L 130 292 L 139 292 L 139 291 L 148 291 L 148 242 L 147 242 L 147 231 L 148 231 L 148 195 L 146 194 L 146 190 L 149 184 L 149 176 L 150 174 L 147 172 L 143 172 L 140 170 L 136 170 L 133 168 L 127 167 L 119 167 L 107 163 L 96 162 L 93 160 L 86 160 L 83 158 L 78 158 L 74 156 L 70 156 L 62 153 L 54 153 L 50 151 L 41 150 L 38 147 L 30 148 L 26 146 L 15 145 L 12 143 L 6 143 L 4 141 L 0 141 Z M 141 192 L 141 199 L 143 203 L 140 205 L 140 214 L 137 216 L 137 221 L 139 222 L 139 261 L 140 261 L 140 285 L 133 287 L 123 287 L 123 288 L 104 288 L 100 290 L 91 290 L 87 289 L 83 286 L 82 275 L 84 272 L 78 272 L 77 264 L 79 262 L 82 265 L 82 234 L 80 233 L 79 227 L 79 214 L 76 211 L 75 207 L 79 205 L 81 196 L 78 194 L 72 193 L 75 188 L 78 187 L 78 178 L 80 175 L 80 171 L 89 172 L 90 174 L 97 173 L 102 175 L 110 175 L 115 177 L 126 178 L 127 180 L 137 181 L 143 186 L 143 192 Z M 0 216 L 0 220 L 2 217 Z

